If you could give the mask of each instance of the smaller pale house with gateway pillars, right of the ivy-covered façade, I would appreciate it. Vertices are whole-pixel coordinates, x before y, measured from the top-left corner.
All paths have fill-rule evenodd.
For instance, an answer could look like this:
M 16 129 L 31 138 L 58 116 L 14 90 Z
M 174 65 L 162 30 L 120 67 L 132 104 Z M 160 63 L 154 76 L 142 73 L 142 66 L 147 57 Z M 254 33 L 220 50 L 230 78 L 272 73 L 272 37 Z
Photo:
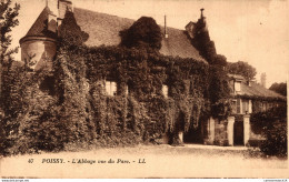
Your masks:
M 286 104 L 286 97 L 280 95 L 255 81 L 229 74 L 231 87 L 232 113 L 225 121 L 208 121 L 208 138 L 205 143 L 219 145 L 256 145 L 263 138 L 253 133 L 250 114 L 267 111 Z

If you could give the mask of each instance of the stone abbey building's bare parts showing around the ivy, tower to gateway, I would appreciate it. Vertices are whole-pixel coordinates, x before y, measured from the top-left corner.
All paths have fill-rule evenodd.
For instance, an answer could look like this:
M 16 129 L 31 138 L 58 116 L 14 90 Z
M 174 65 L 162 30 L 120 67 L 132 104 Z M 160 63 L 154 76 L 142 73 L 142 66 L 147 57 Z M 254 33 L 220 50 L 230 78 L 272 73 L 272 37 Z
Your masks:
M 58 29 L 64 18 L 66 11 L 72 11 L 78 26 L 89 34 L 89 39 L 86 41 L 86 44 L 89 47 L 120 44 L 119 32 L 128 29 L 134 22 L 131 19 L 73 8 L 71 1 L 68 0 L 58 0 L 57 3 L 50 3 L 42 10 L 28 33 L 20 40 L 21 59 L 22 61 L 30 60 L 32 69 L 51 68 L 57 51 Z M 202 11 L 203 9 L 201 10 L 198 22 L 189 22 L 186 26 L 186 30 L 169 28 L 167 24 L 166 27 L 161 27 L 163 32 L 160 49 L 161 54 L 192 58 L 207 63 L 198 49 L 191 43 L 191 39 L 196 33 L 195 30 L 198 30 L 196 27 L 202 23 L 201 26 L 205 26 L 205 30 L 208 29 Z M 233 114 L 225 121 L 217 121 L 211 118 L 208 121 L 201 122 L 202 124 L 198 130 L 190 131 L 187 134 L 180 132 L 179 136 L 181 141 L 218 145 L 246 145 L 255 136 L 250 132 L 249 114 L 258 110 L 266 110 L 275 104 L 271 102 L 260 102 L 253 98 L 278 98 L 281 101 L 285 100 L 283 97 L 257 83 L 247 83 L 242 77 L 230 77 L 233 98 L 232 104 L 235 105 Z M 117 83 L 113 80 L 107 80 L 104 87 L 107 94 L 116 94 Z M 162 85 L 165 97 L 168 97 L 168 87 Z

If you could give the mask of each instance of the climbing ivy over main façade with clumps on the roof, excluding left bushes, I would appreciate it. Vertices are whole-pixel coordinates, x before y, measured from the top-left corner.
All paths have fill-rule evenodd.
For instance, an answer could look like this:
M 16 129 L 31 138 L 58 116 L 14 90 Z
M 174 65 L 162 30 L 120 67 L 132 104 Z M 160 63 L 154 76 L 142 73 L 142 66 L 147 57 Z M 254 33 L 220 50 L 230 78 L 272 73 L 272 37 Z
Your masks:
M 141 22 L 136 22 L 129 30 L 138 34 L 136 27 Z M 72 36 L 79 32 L 76 38 L 87 38 L 77 26 L 73 27 L 76 31 Z M 63 24 L 62 32 L 68 34 L 62 37 L 69 41 L 66 38 L 70 37 L 71 31 L 64 28 Z M 62 105 L 82 107 L 79 108 L 81 113 L 87 114 L 81 115 L 88 117 L 84 117 L 86 122 L 79 120 L 83 129 L 80 136 L 87 138 L 86 132 L 90 129 L 94 133 L 89 141 L 96 139 L 94 143 L 99 145 L 133 144 L 152 142 L 163 133 L 171 133 L 172 143 L 178 143 L 173 139 L 177 139 L 179 131 L 198 128 L 209 117 L 226 119 L 230 112 L 227 73 L 220 65 L 210 65 L 192 58 L 162 55 L 158 49 L 147 47 L 86 47 L 83 42 L 80 46 L 76 42 L 79 44 L 74 40 L 60 44 L 62 52 L 58 53 L 60 61 L 56 64 L 56 74 L 62 72 L 57 77 L 61 78 L 57 85 L 58 97 Z M 106 93 L 106 80 L 117 82 L 117 95 Z M 67 81 L 69 84 L 66 84 Z M 78 91 L 77 88 L 81 89 L 84 83 L 88 84 L 87 92 Z M 162 93 L 163 84 L 169 87 L 168 98 Z M 73 100 L 73 95 L 78 99 Z M 73 112 L 70 109 L 67 111 Z

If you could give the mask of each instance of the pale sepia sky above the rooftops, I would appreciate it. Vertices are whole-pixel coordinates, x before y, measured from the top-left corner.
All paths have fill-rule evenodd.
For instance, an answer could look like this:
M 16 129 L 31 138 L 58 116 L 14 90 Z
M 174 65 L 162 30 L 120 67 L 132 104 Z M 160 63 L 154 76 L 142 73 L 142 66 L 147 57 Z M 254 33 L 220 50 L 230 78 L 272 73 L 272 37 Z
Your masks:
M 57 0 L 13 0 L 20 3 L 20 24 L 13 29 L 13 47 L 36 21 L 42 9 Z M 267 74 L 267 88 L 285 82 L 289 75 L 289 3 L 288 0 L 72 0 L 77 8 L 123 18 L 152 17 L 163 26 L 183 30 L 197 21 L 205 8 L 211 40 L 217 53 L 229 62 L 246 61 L 260 74 Z M 52 8 L 53 9 L 53 8 Z M 20 59 L 20 53 L 16 55 Z

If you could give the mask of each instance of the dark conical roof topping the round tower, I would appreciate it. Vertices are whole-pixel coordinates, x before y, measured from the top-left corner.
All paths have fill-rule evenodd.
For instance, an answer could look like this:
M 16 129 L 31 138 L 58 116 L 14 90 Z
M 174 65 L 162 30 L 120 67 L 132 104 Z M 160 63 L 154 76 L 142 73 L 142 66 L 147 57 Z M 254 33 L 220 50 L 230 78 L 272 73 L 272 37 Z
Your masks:
M 52 39 L 57 38 L 57 34 L 49 31 L 47 28 L 49 14 L 53 14 L 53 12 L 50 11 L 48 7 L 46 7 L 22 39 L 27 37 L 44 37 Z

